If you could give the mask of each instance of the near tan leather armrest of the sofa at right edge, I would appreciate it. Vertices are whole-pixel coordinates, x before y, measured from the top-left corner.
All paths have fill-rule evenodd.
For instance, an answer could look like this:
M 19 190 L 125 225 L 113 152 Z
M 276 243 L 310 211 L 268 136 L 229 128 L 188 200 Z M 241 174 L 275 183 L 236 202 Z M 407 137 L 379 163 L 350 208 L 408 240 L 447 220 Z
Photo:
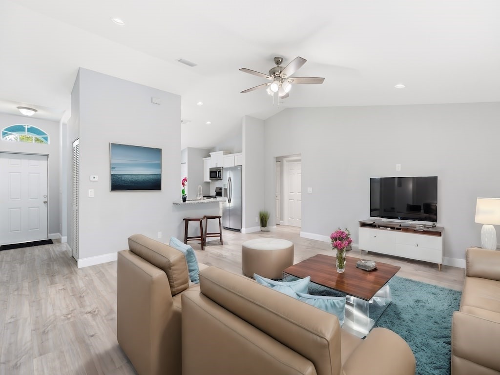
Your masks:
M 492 250 L 488 250 L 492 251 Z M 451 321 L 451 373 L 453 357 L 500 371 L 500 324 L 461 311 Z

